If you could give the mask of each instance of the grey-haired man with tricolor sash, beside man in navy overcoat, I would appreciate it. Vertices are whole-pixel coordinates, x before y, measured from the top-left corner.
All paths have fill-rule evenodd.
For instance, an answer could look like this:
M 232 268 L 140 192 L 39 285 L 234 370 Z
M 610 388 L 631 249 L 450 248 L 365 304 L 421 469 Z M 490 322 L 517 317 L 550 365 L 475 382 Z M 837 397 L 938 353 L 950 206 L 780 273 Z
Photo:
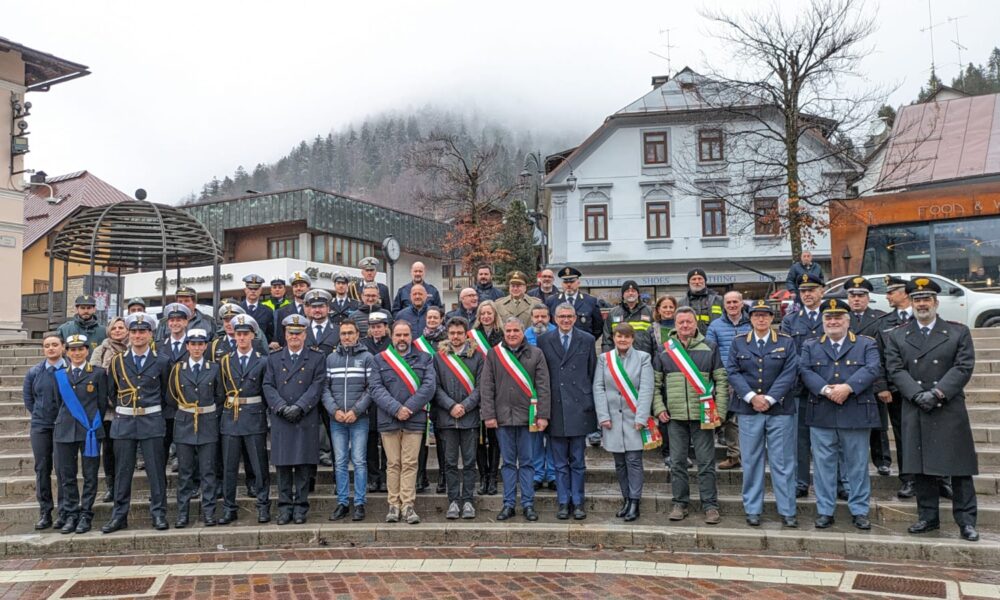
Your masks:
M 542 351 L 524 341 L 524 323 L 516 317 L 504 323 L 503 342 L 486 357 L 480 395 L 480 414 L 487 428 L 497 430 L 503 458 L 503 510 L 497 520 L 514 516 L 520 488 L 524 517 L 537 521 L 529 433 L 549 424 L 549 369 Z

